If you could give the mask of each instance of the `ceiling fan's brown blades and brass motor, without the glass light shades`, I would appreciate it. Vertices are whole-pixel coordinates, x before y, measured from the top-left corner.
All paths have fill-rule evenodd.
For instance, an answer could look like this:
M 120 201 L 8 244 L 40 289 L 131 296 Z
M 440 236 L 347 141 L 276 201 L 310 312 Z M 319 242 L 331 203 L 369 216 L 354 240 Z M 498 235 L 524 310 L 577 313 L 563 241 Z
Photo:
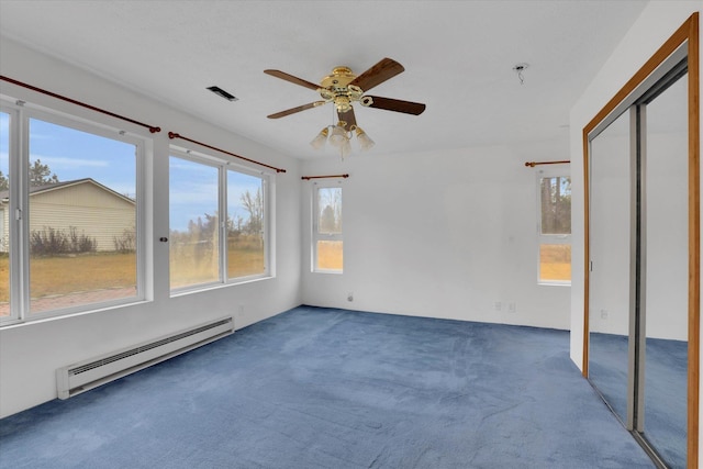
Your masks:
M 422 114 L 425 110 L 425 104 L 366 94 L 366 92 L 371 88 L 393 78 L 403 70 L 403 66 L 398 62 L 392 58 L 383 58 L 361 75 L 355 75 L 349 67 L 335 67 L 332 70 L 332 75 L 324 77 L 320 85 L 303 80 L 281 70 L 264 70 L 265 74 L 272 77 L 300 85 L 301 87 L 310 88 L 311 90 L 320 93 L 320 97 L 322 98 L 322 100 L 319 101 L 270 114 L 268 115 L 268 119 L 284 118 L 286 115 L 294 114 L 306 109 L 317 108 L 331 102 L 335 105 L 339 118 L 339 123 L 337 125 L 344 127 L 345 131 L 350 132 L 358 129 L 353 107 L 353 104 L 357 102 L 366 108 L 376 108 L 413 115 Z

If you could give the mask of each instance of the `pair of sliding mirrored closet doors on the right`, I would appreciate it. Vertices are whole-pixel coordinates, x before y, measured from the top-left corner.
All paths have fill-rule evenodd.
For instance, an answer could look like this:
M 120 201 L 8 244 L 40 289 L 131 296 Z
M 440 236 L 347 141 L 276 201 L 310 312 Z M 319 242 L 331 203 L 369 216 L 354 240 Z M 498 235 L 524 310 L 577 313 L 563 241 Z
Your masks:
M 662 467 L 687 465 L 688 74 L 590 138 L 589 379 Z

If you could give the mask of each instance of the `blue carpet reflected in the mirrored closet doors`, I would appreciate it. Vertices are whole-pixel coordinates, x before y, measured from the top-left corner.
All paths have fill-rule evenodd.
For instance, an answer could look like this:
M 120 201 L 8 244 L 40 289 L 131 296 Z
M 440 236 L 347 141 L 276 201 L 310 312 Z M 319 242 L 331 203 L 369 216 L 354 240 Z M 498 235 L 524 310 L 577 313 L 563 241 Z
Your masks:
M 591 333 L 590 379 L 625 421 L 627 416 L 627 337 Z M 688 343 L 647 338 L 645 433 L 671 468 L 685 467 Z

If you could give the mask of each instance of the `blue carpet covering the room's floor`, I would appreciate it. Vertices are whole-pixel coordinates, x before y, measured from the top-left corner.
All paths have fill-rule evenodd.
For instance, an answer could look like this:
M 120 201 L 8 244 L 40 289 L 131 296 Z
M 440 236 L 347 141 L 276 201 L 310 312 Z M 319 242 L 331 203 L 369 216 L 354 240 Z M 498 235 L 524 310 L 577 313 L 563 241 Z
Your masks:
M 301 306 L 0 421 L 0 468 L 651 468 L 567 332 Z

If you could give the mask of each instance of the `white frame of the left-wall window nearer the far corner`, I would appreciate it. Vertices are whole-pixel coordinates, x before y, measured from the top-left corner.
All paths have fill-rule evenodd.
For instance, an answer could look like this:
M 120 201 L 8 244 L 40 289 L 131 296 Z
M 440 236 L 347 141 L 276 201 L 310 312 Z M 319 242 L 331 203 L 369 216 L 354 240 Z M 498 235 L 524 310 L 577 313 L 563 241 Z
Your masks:
M 177 145 L 169 146 L 169 165 L 170 158 L 176 157 L 185 159 L 187 161 L 202 164 L 205 166 L 214 167 L 217 169 L 217 213 L 227 213 L 227 186 L 228 186 L 228 171 L 239 172 L 246 176 L 259 178 L 261 180 L 261 199 L 264 203 L 264 217 L 263 217 L 263 237 L 264 237 L 264 272 L 242 276 L 230 277 L 228 276 L 228 246 L 226 234 L 226 217 L 225 221 L 217 220 L 217 248 L 220 249 L 217 255 L 219 260 L 219 278 L 214 281 L 208 281 L 203 283 L 190 284 L 185 287 L 171 288 L 169 280 L 170 297 L 179 297 L 182 294 L 194 293 L 212 288 L 221 288 L 227 286 L 235 286 L 247 283 L 250 281 L 258 281 L 264 279 L 274 278 L 272 268 L 272 220 L 274 220 L 274 203 L 272 192 L 275 186 L 275 174 L 269 171 L 256 170 L 244 165 L 233 163 L 232 160 L 213 156 L 212 154 L 201 153 L 189 147 L 182 147 Z M 169 181 L 170 187 L 170 181 Z M 169 202 L 170 211 L 170 202 Z M 170 235 L 170 221 L 169 221 L 169 235 Z M 169 267 L 170 278 L 170 267 Z

